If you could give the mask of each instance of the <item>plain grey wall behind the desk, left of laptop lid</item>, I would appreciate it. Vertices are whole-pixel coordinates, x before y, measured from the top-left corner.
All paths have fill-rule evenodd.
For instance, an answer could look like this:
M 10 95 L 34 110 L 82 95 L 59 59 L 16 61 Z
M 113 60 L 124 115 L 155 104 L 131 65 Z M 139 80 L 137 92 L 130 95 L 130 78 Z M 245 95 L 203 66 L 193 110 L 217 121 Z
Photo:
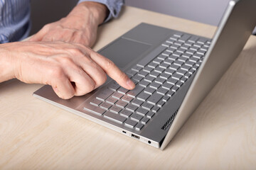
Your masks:
M 230 0 L 126 0 L 129 6 L 218 26 Z

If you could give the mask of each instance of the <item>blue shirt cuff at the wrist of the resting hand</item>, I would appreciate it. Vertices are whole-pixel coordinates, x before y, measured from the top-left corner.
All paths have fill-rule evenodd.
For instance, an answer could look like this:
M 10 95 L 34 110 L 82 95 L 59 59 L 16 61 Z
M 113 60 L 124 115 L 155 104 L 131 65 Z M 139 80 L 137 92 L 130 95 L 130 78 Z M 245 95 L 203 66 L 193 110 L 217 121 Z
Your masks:
M 107 6 L 109 9 L 110 14 L 107 16 L 104 22 L 110 21 L 111 18 L 117 18 L 122 6 L 124 5 L 124 0 L 80 0 L 78 1 L 78 4 L 83 1 L 95 1 L 101 4 L 105 4 L 105 6 Z

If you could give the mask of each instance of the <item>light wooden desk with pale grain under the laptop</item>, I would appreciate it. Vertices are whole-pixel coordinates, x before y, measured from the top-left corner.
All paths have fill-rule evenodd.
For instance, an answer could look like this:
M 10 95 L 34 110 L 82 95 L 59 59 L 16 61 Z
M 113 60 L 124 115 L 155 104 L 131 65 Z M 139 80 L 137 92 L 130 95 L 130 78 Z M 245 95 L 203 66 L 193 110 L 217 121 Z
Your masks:
M 212 37 L 215 27 L 125 7 L 100 27 L 94 49 L 137 24 Z M 0 169 L 255 169 L 256 38 L 164 150 L 32 96 L 38 84 L 0 84 Z

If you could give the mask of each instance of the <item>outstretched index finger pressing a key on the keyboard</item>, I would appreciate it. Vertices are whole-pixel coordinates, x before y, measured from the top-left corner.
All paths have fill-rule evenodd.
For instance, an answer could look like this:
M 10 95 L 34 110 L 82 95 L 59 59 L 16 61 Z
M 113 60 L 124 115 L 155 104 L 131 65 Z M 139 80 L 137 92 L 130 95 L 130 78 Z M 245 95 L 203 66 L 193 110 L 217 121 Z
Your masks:
M 97 52 L 91 51 L 90 57 L 94 60 L 102 69 L 104 70 L 107 75 L 109 75 L 112 79 L 117 81 L 117 83 L 124 87 L 125 89 L 132 90 L 135 87 L 134 82 L 127 77 L 127 74 L 122 72 L 111 60 L 102 55 L 98 54 Z

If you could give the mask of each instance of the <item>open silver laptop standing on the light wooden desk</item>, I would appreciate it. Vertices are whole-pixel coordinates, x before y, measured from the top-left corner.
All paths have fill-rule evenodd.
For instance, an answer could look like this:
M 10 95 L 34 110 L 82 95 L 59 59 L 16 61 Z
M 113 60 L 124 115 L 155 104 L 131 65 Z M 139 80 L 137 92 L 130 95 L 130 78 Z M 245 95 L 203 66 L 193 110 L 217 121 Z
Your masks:
M 63 100 L 48 85 L 33 96 L 164 149 L 240 54 L 256 26 L 255 6 L 230 1 L 212 40 L 141 23 L 99 50 L 134 81 L 133 90 L 108 77 L 85 96 Z

